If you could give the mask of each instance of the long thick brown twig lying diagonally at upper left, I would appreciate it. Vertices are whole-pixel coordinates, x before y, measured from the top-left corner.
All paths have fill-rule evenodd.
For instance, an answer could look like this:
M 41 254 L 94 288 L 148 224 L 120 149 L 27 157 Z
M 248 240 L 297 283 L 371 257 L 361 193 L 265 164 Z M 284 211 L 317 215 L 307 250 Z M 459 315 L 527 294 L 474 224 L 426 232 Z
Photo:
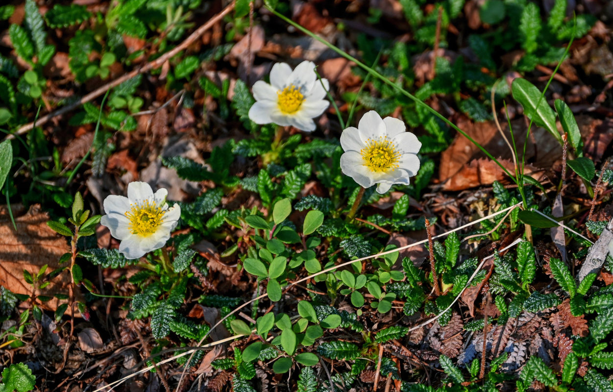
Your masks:
M 204 34 L 205 31 L 207 31 L 212 26 L 214 26 L 216 23 L 218 23 L 218 21 L 222 20 L 222 18 L 225 17 L 228 13 L 230 13 L 230 11 L 232 11 L 233 9 L 234 9 L 234 1 L 232 1 L 226 8 L 224 8 L 217 15 L 215 15 L 212 18 L 210 18 L 207 21 L 207 23 L 205 23 L 204 25 L 200 26 L 200 28 L 196 29 L 196 31 L 194 31 L 194 33 L 191 33 L 189 35 L 189 37 L 187 37 L 183 42 L 181 42 L 181 44 L 177 45 L 175 48 L 173 48 L 169 52 L 166 52 L 163 55 L 161 55 L 158 58 L 156 58 L 155 60 L 150 61 L 149 63 L 143 65 L 142 67 L 134 69 L 133 71 L 128 72 L 127 74 L 125 74 L 125 75 L 123 75 L 121 77 L 118 77 L 117 79 L 113 80 L 112 82 L 107 83 L 104 86 L 101 86 L 101 87 L 97 88 L 96 90 L 92 91 L 91 93 L 86 94 L 85 96 L 83 96 L 83 98 L 79 99 L 77 102 L 74 102 L 74 103 L 72 103 L 72 104 L 70 104 L 68 106 L 64 106 L 61 109 L 55 110 L 55 112 L 51 112 L 51 113 L 48 113 L 48 114 L 44 115 L 43 117 L 40 117 L 36 121 L 37 125 L 43 125 L 43 124 L 47 123 L 47 121 L 51 120 L 51 118 L 61 116 L 61 115 L 65 114 L 65 113 L 70 112 L 71 110 L 77 109 L 77 107 L 81 106 L 82 104 L 85 104 L 86 102 L 89 102 L 89 101 L 92 101 L 95 98 L 98 98 L 102 94 L 106 93 L 108 90 L 112 89 L 113 87 L 116 87 L 116 86 L 120 85 L 121 83 L 125 82 L 126 80 L 130 80 L 130 79 L 132 79 L 133 77 L 135 77 L 137 75 L 144 74 L 145 72 L 148 72 L 151 69 L 155 69 L 155 68 L 161 67 L 162 64 L 166 63 L 167 60 L 169 60 L 173 56 L 177 55 L 182 50 L 185 50 L 186 48 L 188 48 L 189 45 L 191 45 L 195 40 L 197 40 L 200 36 L 202 36 L 202 34 Z M 34 128 L 34 123 L 26 124 L 26 125 L 22 126 L 21 128 L 17 129 L 17 131 L 15 131 L 15 133 L 9 134 L 6 137 L 6 139 L 14 139 L 15 135 L 25 134 L 29 130 L 31 130 L 32 128 Z

